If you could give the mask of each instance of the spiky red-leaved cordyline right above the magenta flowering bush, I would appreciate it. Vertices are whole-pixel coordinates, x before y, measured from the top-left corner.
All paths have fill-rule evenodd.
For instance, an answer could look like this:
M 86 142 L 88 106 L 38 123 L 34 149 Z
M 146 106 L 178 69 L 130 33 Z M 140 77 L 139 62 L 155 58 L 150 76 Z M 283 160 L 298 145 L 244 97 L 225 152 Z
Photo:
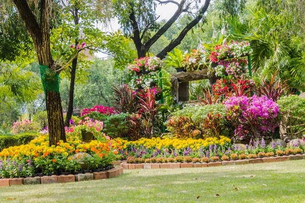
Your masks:
M 281 79 L 276 80 L 278 73 L 271 76 L 269 81 L 262 79 L 262 84 L 258 84 L 256 90 L 259 96 L 267 96 L 273 101 L 279 100 L 279 97 L 285 94 L 288 86 L 285 84 L 288 80 L 281 83 Z

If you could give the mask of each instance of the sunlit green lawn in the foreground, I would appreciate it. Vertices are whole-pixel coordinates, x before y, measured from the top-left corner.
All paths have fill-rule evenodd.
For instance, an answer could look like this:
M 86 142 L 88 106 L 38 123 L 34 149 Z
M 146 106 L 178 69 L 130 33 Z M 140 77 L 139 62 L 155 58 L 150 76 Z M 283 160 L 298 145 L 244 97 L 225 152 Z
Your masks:
M 305 160 L 126 170 L 108 180 L 1 187 L 0 202 L 305 202 L 304 172 Z

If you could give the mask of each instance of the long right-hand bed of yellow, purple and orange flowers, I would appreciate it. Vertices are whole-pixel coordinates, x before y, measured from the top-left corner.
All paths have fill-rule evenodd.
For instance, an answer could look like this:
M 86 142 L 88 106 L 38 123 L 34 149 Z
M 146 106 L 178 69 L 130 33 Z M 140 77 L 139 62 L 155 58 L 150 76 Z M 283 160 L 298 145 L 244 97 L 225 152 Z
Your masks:
M 283 156 L 304 152 L 303 141 L 283 147 L 280 143 L 272 142 L 267 145 L 262 139 L 246 145 L 245 150 L 232 147 L 230 139 L 226 137 L 199 139 L 140 139 L 123 143 L 118 151 L 117 158 L 127 158 L 128 163 L 168 163 L 168 162 L 211 162 L 227 161 L 230 159 L 252 159 L 257 157 Z

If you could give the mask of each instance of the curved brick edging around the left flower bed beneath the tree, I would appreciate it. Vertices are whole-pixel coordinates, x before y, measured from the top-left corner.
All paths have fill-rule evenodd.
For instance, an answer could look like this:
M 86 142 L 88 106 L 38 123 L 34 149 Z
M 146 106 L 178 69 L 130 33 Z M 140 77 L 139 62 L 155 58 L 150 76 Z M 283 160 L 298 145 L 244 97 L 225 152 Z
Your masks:
M 0 179 L 0 186 L 11 185 L 36 185 L 36 184 L 48 184 L 48 183 L 70 183 L 89 180 L 100 180 L 115 178 L 122 175 L 123 167 L 114 167 L 104 172 L 85 173 L 77 175 L 60 175 L 60 176 L 43 176 L 43 177 L 29 177 L 29 178 L 4 178 Z

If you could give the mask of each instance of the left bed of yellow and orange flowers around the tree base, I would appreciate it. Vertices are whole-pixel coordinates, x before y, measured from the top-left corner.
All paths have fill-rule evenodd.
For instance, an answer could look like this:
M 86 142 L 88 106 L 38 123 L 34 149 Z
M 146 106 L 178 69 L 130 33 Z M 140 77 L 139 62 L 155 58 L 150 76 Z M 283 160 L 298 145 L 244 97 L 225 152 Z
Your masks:
M 0 152 L 0 176 L 20 178 L 38 174 L 81 173 L 81 164 L 87 170 L 105 171 L 117 153 L 117 146 L 107 138 L 104 138 L 104 142 L 86 144 L 70 138 L 67 143 L 59 142 L 57 146 L 48 146 L 46 139 L 46 136 L 40 136 L 29 144 L 9 147 Z

